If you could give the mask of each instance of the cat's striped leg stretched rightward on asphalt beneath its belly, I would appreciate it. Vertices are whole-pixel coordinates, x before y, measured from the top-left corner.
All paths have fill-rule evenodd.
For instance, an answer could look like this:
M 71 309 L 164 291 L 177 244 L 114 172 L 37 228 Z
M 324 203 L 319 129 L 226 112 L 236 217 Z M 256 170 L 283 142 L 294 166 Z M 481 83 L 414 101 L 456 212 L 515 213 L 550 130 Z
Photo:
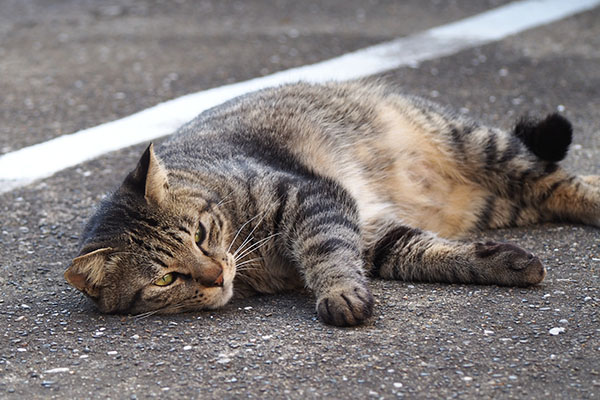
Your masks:
M 423 282 L 529 286 L 546 270 L 533 254 L 508 243 L 463 243 L 398 223 L 372 226 L 366 259 L 371 274 Z

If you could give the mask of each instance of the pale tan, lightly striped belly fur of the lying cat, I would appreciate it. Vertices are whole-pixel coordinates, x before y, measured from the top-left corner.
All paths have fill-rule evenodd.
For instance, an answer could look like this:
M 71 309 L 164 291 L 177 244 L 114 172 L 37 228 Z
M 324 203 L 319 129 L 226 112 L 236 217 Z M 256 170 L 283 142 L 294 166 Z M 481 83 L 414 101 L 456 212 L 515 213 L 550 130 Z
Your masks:
M 459 237 L 477 226 L 489 192 L 461 174 L 437 137 L 393 109 L 382 111 L 381 137 L 357 143 L 340 175 L 369 221 L 394 216 L 412 227 Z M 358 163 L 357 163 L 358 161 Z

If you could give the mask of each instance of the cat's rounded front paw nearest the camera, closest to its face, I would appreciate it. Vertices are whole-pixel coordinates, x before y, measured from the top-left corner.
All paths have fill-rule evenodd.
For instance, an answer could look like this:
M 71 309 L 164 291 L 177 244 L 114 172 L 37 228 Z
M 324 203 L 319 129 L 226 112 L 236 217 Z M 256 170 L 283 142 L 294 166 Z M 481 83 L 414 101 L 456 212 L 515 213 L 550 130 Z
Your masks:
M 332 288 L 317 300 L 317 313 L 326 324 L 358 325 L 373 314 L 373 296 L 366 286 Z

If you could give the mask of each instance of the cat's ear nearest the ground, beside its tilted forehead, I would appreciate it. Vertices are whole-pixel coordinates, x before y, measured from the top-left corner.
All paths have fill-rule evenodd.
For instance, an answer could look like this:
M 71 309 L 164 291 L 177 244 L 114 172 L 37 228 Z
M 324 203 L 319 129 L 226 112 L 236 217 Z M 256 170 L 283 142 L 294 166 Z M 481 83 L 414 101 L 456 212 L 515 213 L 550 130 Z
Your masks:
M 97 298 L 100 295 L 100 283 L 106 274 L 106 255 L 111 250 L 98 249 L 75 258 L 65 271 L 67 282 L 90 297 Z

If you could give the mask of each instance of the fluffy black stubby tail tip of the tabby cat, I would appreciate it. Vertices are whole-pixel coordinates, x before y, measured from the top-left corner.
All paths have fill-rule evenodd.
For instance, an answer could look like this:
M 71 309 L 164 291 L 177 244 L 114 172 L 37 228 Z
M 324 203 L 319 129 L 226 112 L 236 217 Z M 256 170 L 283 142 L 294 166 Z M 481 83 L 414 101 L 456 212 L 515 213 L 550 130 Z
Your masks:
M 562 115 L 554 113 L 543 120 L 522 118 L 515 135 L 542 160 L 557 162 L 565 158 L 573 139 L 573 127 Z

